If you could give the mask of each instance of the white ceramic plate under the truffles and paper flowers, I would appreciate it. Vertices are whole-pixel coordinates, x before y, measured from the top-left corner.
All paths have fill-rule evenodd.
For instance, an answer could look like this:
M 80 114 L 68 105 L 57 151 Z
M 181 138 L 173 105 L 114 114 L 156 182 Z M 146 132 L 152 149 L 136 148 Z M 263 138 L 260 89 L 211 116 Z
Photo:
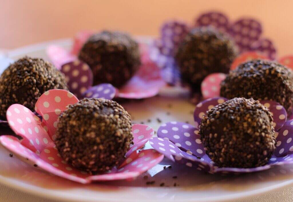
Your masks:
M 58 43 L 65 48 L 71 46 L 69 39 L 50 43 Z M 24 55 L 48 59 L 45 47 L 50 43 L 18 48 L 7 55 L 13 59 Z M 178 94 L 180 98 L 175 96 Z M 168 121 L 193 123 L 194 106 L 190 104 L 186 91 L 182 89 L 165 88 L 159 97 L 131 101 L 122 105 L 131 113 L 133 122 L 144 122 L 155 130 L 161 123 Z M 0 146 L 1 183 L 62 201 L 227 201 L 259 195 L 293 183 L 293 166 L 280 166 L 260 173 L 239 176 L 215 176 L 166 160 L 134 181 L 83 185 L 52 176 L 29 165 L 29 162 L 22 162 L 16 156 L 10 157 L 9 153 Z M 172 168 L 163 169 L 166 165 L 172 165 Z M 144 179 L 144 176 L 148 176 L 148 179 Z M 177 179 L 173 176 L 177 176 Z M 147 181 L 155 183 L 146 185 Z M 161 183 L 164 183 L 165 187 L 160 187 Z

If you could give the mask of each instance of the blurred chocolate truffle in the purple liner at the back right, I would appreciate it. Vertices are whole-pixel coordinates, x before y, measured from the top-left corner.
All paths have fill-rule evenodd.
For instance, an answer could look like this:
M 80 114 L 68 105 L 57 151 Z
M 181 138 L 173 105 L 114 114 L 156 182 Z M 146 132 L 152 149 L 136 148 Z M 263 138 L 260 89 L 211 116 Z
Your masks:
M 194 28 L 180 43 L 176 62 L 184 83 L 193 89 L 211 73 L 228 73 L 237 55 L 231 39 L 211 27 Z

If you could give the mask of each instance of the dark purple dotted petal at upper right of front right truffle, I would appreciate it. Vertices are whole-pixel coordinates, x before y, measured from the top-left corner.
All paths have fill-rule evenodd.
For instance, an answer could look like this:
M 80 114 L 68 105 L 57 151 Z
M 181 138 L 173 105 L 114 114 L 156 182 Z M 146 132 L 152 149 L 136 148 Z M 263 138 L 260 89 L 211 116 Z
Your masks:
M 275 101 L 261 100 L 260 103 L 267 107 L 270 112 L 272 112 L 275 131 L 279 131 L 280 128 L 283 127 L 287 119 L 287 112 L 285 108 Z

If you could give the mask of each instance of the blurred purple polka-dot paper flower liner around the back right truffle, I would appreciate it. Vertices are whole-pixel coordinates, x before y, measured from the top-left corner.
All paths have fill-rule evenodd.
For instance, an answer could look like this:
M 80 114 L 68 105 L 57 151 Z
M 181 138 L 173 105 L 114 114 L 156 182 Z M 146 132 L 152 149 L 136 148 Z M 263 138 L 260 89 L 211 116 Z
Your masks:
M 276 49 L 271 40 L 262 38 L 262 26 L 253 18 L 240 18 L 234 22 L 220 12 L 207 12 L 194 20 L 193 25 L 182 21 L 168 21 L 161 26 L 161 36 L 154 41 L 151 59 L 163 68 L 162 76 L 167 83 L 180 83 L 178 66 L 174 54 L 180 42 L 190 29 L 212 26 L 234 39 L 240 53 L 246 51 L 260 52 L 271 60 L 275 59 Z

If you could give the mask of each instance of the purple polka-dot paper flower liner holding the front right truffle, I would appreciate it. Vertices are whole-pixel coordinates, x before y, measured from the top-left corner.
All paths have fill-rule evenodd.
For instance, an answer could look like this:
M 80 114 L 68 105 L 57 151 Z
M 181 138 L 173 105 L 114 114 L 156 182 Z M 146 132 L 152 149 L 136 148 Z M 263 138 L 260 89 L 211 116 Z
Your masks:
M 194 111 L 195 125 L 168 122 L 158 129 L 158 137 L 150 139 L 151 146 L 171 161 L 212 174 L 248 173 L 269 169 L 272 166 L 293 164 L 293 120 L 286 121 L 283 106 L 273 101 L 260 101 L 273 114 L 276 150 L 268 164 L 256 168 L 219 168 L 206 154 L 199 135 L 202 116 L 212 107 L 225 102 L 226 98 L 216 97 L 197 104 Z

